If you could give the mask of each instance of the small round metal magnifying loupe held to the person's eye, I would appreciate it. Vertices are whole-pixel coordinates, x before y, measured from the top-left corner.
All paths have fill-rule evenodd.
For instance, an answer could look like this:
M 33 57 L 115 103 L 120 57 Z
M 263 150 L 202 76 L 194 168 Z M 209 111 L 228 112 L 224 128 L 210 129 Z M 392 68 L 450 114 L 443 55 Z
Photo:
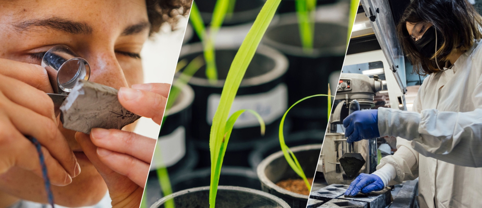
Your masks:
M 60 105 L 79 79 L 89 80 L 90 66 L 66 45 L 56 45 L 42 58 L 42 67 L 47 70 L 54 93 L 47 93 L 54 101 L 55 116 L 60 113 Z

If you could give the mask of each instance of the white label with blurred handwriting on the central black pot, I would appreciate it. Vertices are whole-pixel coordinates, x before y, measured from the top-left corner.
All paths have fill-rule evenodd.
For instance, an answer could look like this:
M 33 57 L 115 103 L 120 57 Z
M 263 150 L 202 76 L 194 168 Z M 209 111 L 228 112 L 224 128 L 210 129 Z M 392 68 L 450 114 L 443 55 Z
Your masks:
M 219 105 L 220 98 L 220 94 L 211 94 L 208 97 L 206 120 L 210 125 L 213 123 L 214 113 Z M 251 109 L 263 117 L 263 120 L 268 125 L 284 114 L 287 109 L 287 104 L 288 90 L 285 84 L 279 84 L 268 92 L 236 96 L 231 106 L 229 116 L 241 109 Z M 249 112 L 241 114 L 238 120 L 236 120 L 236 123 L 234 123 L 235 129 L 255 126 L 259 126 L 259 122 L 256 117 Z

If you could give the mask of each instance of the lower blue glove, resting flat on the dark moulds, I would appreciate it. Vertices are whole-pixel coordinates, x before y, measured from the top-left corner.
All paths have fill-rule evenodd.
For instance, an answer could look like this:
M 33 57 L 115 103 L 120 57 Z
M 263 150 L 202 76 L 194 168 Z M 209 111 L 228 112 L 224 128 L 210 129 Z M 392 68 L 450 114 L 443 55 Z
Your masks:
M 360 191 L 362 191 L 363 194 L 367 194 L 372 191 L 381 191 L 383 188 L 385 188 L 385 185 L 377 175 L 360 173 L 360 175 L 351 182 L 345 195 L 355 196 Z

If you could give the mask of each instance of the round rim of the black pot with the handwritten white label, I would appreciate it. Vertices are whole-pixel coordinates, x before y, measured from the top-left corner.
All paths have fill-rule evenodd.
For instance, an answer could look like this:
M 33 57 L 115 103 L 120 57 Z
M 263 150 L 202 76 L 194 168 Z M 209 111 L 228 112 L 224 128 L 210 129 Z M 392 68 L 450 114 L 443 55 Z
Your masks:
M 227 45 L 227 44 L 216 45 L 215 49 L 237 51 L 239 49 L 239 46 L 233 46 L 233 45 Z M 193 54 L 197 52 L 203 52 L 201 42 L 183 46 L 181 49 L 179 58 L 186 56 L 188 54 Z M 256 50 L 256 53 L 260 55 L 264 55 L 270 58 L 271 60 L 273 60 L 274 67 L 273 69 L 271 69 L 265 74 L 251 77 L 251 78 L 243 78 L 241 80 L 240 87 L 250 87 L 250 86 L 256 86 L 256 85 L 268 83 L 272 80 L 280 78 L 288 70 L 288 59 L 283 54 L 276 51 L 275 49 L 272 49 L 269 46 L 260 44 L 258 46 L 258 49 Z M 179 72 L 176 73 L 176 77 L 179 77 Z M 223 88 L 224 82 L 225 82 L 225 79 L 218 79 L 215 84 L 211 84 L 207 78 L 197 78 L 193 76 L 188 83 L 196 86 Z

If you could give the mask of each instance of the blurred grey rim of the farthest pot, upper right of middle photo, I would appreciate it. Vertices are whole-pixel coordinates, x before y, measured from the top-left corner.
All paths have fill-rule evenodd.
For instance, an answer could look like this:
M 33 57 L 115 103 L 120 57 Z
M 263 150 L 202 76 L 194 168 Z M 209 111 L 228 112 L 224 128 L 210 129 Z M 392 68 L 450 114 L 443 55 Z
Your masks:
M 347 32 L 348 32 L 348 26 L 344 25 L 339 22 L 330 22 L 330 21 L 321 21 L 321 20 L 315 20 L 315 23 L 322 23 L 326 25 L 334 25 L 334 26 L 342 26 L 342 27 L 347 27 Z M 276 22 L 276 24 L 271 24 L 266 33 L 268 33 L 271 29 L 277 27 L 277 26 L 286 26 L 286 25 L 297 25 L 297 18 L 295 14 L 287 13 L 287 14 L 281 14 L 280 15 L 280 20 Z M 298 46 L 292 46 L 284 43 L 280 43 L 278 41 L 274 41 L 269 38 L 267 34 L 263 36 L 263 39 L 261 43 L 266 44 L 268 46 L 271 46 L 280 52 L 283 52 L 285 54 L 297 56 L 297 57 L 310 57 L 310 58 L 318 58 L 318 57 L 323 57 L 323 56 L 333 56 L 333 55 L 345 55 L 347 52 L 347 45 L 346 44 L 340 44 L 337 46 L 333 47 L 323 47 L 323 48 L 314 48 L 312 54 L 306 54 L 303 52 L 302 47 Z

